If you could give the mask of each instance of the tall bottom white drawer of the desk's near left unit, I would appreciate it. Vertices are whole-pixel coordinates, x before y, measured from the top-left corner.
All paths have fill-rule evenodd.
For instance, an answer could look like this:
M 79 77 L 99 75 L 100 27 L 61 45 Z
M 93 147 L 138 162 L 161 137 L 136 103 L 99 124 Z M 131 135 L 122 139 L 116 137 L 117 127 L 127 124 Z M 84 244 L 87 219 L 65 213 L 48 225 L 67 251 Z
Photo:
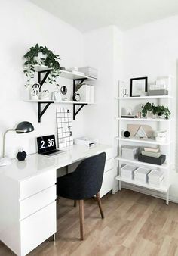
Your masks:
M 26 255 L 57 231 L 56 202 L 20 222 L 21 255 Z

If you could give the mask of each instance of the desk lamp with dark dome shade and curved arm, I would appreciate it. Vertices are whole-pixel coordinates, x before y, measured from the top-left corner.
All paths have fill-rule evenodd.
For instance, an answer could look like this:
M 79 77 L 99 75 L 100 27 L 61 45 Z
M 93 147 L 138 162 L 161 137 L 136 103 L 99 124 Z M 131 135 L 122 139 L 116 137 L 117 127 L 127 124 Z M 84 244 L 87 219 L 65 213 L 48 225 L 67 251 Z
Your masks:
M 5 157 L 5 136 L 8 132 L 14 131 L 16 133 L 31 133 L 34 131 L 34 127 L 32 123 L 29 123 L 27 121 L 21 122 L 17 125 L 16 129 L 8 129 L 2 139 L 2 145 L 3 145 L 3 151 L 2 151 L 2 158 L 0 158 L 0 166 L 5 166 L 8 164 L 11 164 L 11 159 Z

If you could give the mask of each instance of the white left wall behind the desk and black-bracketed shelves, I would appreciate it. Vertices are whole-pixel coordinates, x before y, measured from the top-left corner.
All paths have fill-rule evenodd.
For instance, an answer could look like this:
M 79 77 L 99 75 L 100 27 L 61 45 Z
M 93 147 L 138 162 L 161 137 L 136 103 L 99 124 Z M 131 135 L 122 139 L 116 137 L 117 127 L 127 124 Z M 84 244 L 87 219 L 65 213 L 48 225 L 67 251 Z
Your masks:
M 36 136 L 56 133 L 57 105 L 51 105 L 41 123 L 37 123 L 37 105 L 23 102 L 23 85 L 26 81 L 22 72 L 23 55 L 38 42 L 39 45 L 55 49 L 60 55 L 62 66 L 79 67 L 83 64 L 83 36 L 62 20 L 23 0 L 3 1 L 0 23 L 0 145 L 2 133 L 8 128 L 14 128 L 20 121 L 29 120 L 35 126 L 34 133 L 8 133 L 7 155 L 14 157 L 21 147 L 28 154 L 35 152 Z M 71 81 L 59 80 L 59 83 Z M 53 90 L 55 87 L 50 86 L 49 89 Z M 83 134 L 82 113 L 73 122 L 73 131 L 74 136 Z

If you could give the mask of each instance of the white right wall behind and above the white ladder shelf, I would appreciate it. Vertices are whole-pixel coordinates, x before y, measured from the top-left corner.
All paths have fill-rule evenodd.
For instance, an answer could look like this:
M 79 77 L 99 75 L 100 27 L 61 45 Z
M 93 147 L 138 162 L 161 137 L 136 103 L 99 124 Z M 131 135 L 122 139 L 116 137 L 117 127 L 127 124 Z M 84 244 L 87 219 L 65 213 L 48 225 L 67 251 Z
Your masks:
M 157 76 L 173 75 L 173 166 L 176 165 L 177 156 L 174 156 L 176 148 L 176 101 L 177 101 L 177 60 L 178 60 L 178 16 L 142 27 L 128 30 L 123 37 L 123 80 L 129 87 L 131 77 L 148 76 L 149 83 Z M 176 151 L 177 152 L 177 151 Z M 178 201 L 178 173 L 170 170 L 170 198 Z

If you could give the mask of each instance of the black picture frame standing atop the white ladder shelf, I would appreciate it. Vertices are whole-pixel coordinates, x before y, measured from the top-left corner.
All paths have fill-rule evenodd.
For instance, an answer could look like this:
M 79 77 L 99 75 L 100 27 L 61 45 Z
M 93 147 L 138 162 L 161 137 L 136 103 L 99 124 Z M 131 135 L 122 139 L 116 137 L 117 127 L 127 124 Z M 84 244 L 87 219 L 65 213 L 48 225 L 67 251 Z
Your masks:
M 140 81 L 140 85 L 142 86 L 142 88 L 140 89 L 140 94 L 135 93 L 134 91 L 134 83 L 137 83 L 137 80 L 143 80 L 143 85 L 141 84 L 142 82 Z M 136 86 L 136 85 L 135 85 Z M 144 76 L 144 77 L 136 77 L 136 78 L 131 78 L 130 79 L 130 97 L 140 97 L 141 96 L 141 92 L 147 92 L 147 87 L 148 87 L 148 77 Z M 136 89 L 136 88 L 135 88 Z M 139 89 L 136 90 L 136 92 L 138 92 Z

